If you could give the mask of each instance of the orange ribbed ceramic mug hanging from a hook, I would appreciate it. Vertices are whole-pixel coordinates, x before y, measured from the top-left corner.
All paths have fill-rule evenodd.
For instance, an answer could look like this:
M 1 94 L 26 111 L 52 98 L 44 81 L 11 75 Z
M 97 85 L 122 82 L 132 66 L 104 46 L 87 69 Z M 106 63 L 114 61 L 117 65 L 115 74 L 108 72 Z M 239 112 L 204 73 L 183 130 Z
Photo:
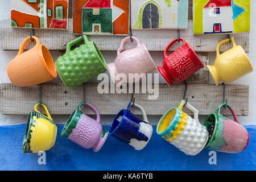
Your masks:
M 51 81 L 57 77 L 57 71 L 46 46 L 40 44 L 36 36 L 35 47 L 23 52 L 26 44 L 31 40 L 26 38 L 19 48 L 18 55 L 9 63 L 7 74 L 16 86 L 31 86 Z

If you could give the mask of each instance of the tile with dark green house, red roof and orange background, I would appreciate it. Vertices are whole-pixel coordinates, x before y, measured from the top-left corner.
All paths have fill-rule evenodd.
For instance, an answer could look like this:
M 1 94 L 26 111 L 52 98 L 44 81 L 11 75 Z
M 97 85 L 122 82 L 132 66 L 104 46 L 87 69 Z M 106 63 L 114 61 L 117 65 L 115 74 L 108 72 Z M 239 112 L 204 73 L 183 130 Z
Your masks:
M 73 0 L 73 32 L 81 31 L 89 35 L 128 35 L 129 0 Z

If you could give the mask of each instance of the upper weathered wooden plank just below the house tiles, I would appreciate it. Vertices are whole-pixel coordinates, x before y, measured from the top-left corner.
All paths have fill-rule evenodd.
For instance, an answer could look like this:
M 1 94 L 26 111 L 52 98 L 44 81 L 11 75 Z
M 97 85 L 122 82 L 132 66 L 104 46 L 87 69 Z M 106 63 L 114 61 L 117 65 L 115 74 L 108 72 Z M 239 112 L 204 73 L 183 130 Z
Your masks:
M 0 48 L 4 50 L 18 50 L 24 38 L 30 35 L 31 29 L 11 28 L 10 19 L 0 19 Z M 68 20 L 68 30 L 35 30 L 40 42 L 50 50 L 63 50 L 65 44 L 76 39 L 79 35 L 73 34 L 73 20 Z M 133 35 L 144 43 L 149 51 L 164 51 L 168 43 L 177 37 L 177 30 L 134 30 Z M 196 52 L 215 52 L 216 46 L 227 35 L 193 35 L 193 22 L 188 21 L 188 29 L 180 30 L 183 37 Z M 249 33 L 236 34 L 235 40 L 246 52 L 249 52 Z M 89 39 L 94 41 L 101 50 L 117 50 L 125 36 L 95 36 L 90 35 Z M 28 43 L 25 49 L 32 48 L 35 43 Z M 175 44 L 170 51 L 175 51 L 181 46 Z M 124 49 L 133 48 L 134 44 L 127 43 Z M 221 51 L 226 51 L 232 47 L 231 44 L 221 46 Z

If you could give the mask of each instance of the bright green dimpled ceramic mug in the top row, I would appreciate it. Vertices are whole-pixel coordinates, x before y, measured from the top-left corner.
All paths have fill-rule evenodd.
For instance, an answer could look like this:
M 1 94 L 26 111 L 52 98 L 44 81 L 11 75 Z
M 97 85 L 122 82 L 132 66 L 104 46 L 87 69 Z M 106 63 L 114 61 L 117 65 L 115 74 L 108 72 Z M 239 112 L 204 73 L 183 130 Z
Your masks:
M 86 35 L 83 35 L 83 39 L 84 44 L 72 51 L 71 47 L 79 44 L 82 37 L 69 42 L 65 54 L 55 63 L 61 80 L 69 88 L 80 86 L 107 70 L 104 57 L 96 44 L 89 42 Z

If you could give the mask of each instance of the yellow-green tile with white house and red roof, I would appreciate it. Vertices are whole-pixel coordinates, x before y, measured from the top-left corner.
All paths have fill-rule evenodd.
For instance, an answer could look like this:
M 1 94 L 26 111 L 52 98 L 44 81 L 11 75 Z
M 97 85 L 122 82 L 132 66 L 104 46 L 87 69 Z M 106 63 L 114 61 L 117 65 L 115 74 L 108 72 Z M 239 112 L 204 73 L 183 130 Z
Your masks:
M 250 31 L 250 0 L 193 0 L 194 34 Z

